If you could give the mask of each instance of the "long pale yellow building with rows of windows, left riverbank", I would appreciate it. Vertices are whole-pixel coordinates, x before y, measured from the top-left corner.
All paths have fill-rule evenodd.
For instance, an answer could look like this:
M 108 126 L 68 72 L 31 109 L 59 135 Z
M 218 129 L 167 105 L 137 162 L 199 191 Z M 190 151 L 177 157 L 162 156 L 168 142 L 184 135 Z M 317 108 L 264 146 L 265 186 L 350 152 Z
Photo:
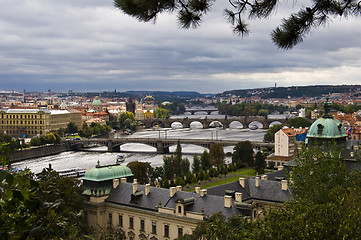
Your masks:
M 66 128 L 69 122 L 81 126 L 77 110 L 1 109 L 0 131 L 13 137 L 43 136 L 50 131 Z

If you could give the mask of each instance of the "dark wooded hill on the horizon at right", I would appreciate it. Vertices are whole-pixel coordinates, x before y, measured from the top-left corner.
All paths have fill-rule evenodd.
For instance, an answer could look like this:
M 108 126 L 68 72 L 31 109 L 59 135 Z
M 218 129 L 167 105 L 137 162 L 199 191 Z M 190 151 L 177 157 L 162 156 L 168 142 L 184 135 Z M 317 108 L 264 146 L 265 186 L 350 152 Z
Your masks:
M 219 96 L 236 95 L 240 97 L 259 96 L 261 98 L 299 98 L 320 97 L 332 93 L 352 93 L 360 95 L 361 85 L 315 85 L 315 86 L 292 86 L 277 88 L 256 88 L 225 91 Z

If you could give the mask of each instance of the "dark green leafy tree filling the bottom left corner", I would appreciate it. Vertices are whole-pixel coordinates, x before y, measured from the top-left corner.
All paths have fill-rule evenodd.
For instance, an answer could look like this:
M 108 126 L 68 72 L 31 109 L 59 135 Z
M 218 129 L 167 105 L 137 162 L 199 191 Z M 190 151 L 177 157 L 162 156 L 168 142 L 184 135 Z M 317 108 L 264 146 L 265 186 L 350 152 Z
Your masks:
M 82 188 L 51 168 L 0 170 L 1 239 L 88 239 Z

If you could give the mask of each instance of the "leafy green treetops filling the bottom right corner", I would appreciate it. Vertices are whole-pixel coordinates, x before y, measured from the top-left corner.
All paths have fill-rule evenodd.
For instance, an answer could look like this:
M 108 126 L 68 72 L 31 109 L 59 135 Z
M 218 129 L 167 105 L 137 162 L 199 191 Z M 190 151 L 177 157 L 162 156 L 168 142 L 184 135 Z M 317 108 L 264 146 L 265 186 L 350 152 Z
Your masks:
M 360 238 L 361 171 L 346 167 L 342 151 L 335 146 L 327 152 L 304 148 L 289 177 L 294 198 L 271 208 L 264 219 L 225 220 L 216 214 L 181 239 Z

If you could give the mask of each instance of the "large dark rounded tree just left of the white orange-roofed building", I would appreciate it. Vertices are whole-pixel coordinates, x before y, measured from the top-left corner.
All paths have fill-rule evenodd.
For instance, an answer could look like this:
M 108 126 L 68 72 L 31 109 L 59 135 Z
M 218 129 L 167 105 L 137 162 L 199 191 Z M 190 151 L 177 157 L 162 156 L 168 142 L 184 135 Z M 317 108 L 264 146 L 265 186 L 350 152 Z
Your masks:
M 237 167 L 254 165 L 253 147 L 250 141 L 238 142 L 233 148 L 232 163 Z

